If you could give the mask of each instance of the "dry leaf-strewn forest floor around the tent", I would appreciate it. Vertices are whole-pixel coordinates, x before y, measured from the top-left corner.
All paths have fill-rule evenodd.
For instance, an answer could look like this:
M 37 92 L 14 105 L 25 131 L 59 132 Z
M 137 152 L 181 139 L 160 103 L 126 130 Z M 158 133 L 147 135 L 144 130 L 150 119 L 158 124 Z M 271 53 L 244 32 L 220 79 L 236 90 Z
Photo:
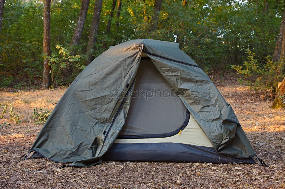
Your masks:
M 233 107 L 253 148 L 269 166 L 211 163 L 113 162 L 60 169 L 47 159 L 19 161 L 32 146 L 42 124 L 30 116 L 35 107 L 52 110 L 66 87 L 0 92 L 1 103 L 13 103 L 21 124 L 0 119 L 0 188 L 284 188 L 284 109 L 271 109 L 271 97 L 240 85 L 236 77 L 214 76 L 213 82 Z M 0 111 L 2 112 L 3 107 Z M 0 112 L 0 113 L 1 113 Z M 26 122 L 25 122 L 26 121 Z

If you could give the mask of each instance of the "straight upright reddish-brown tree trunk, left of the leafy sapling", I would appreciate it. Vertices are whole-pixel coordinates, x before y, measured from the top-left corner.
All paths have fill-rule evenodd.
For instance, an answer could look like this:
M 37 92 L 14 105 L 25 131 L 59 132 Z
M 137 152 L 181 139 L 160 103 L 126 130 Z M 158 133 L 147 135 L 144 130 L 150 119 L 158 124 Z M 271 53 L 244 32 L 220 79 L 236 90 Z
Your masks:
M 44 0 L 44 54 L 50 56 L 50 0 Z M 51 84 L 50 66 L 48 59 L 44 58 L 44 73 L 42 77 L 42 88 L 47 89 Z

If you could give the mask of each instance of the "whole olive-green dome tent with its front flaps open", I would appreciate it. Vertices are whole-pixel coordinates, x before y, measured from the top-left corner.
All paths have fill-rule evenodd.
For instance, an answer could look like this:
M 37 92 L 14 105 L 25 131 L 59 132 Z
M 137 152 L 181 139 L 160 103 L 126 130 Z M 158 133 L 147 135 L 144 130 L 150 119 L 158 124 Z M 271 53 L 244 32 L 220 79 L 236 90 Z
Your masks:
M 148 39 L 94 59 L 58 101 L 33 151 L 76 167 L 102 159 L 255 163 L 256 156 L 203 70 L 178 43 Z

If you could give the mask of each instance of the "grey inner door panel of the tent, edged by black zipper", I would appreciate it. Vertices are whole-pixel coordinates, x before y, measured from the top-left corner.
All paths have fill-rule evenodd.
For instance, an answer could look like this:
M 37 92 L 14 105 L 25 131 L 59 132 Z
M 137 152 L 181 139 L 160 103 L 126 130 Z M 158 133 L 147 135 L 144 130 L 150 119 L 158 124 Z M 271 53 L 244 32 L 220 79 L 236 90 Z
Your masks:
M 117 138 L 163 138 L 178 134 L 190 113 L 148 57 L 142 57 L 131 105 Z

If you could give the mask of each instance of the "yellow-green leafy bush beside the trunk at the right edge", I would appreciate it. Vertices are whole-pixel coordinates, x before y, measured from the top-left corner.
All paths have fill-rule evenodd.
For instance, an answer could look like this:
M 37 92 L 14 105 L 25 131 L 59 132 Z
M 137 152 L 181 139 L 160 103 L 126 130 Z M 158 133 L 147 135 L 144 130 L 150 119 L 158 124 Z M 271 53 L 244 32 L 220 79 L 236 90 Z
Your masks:
M 267 56 L 266 63 L 262 65 L 255 59 L 255 53 L 249 49 L 246 53 L 248 57 L 243 66 L 232 65 L 238 74 L 244 76 L 240 81 L 247 83 L 254 90 L 274 92 L 274 87 L 284 78 L 284 61 L 272 62 Z

